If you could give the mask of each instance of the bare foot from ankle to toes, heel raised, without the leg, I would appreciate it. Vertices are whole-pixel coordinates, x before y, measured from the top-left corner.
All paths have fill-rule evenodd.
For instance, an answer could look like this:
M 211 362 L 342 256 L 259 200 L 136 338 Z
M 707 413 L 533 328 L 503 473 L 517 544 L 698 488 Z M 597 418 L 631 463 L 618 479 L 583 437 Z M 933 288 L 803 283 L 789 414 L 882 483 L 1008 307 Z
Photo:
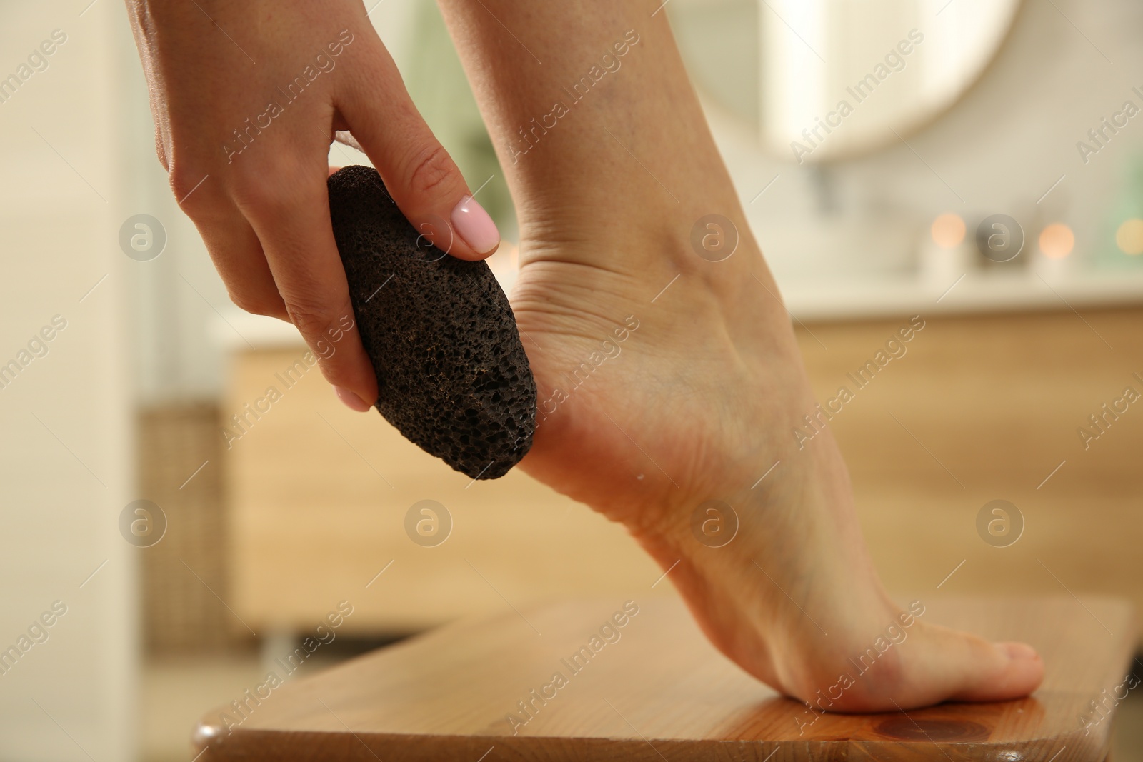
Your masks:
M 815 707 L 1034 690 L 1044 666 L 1030 647 L 932 625 L 924 601 L 889 601 L 832 435 L 799 450 L 792 434 L 815 401 L 745 225 L 735 254 L 713 263 L 670 211 L 601 226 L 598 240 L 552 214 L 526 238 L 513 306 L 541 392 L 526 471 L 626 526 L 673 566 L 724 653 Z M 735 520 L 701 510 L 708 500 L 737 519 L 720 547 Z M 703 521 L 714 522 L 706 534 Z

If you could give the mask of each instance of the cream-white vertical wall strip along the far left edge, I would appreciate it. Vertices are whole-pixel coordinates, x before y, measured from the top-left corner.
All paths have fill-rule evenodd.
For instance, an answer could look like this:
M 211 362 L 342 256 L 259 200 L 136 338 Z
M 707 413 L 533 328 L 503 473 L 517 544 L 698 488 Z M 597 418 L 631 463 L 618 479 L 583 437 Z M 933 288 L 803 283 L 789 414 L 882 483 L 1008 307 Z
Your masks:
M 0 649 L 54 601 L 66 607 L 0 674 L 3 760 L 133 757 L 136 556 L 117 530 L 134 499 L 122 305 L 137 264 L 115 242 L 123 9 L 103 0 L 80 16 L 86 5 L 0 5 L 0 77 L 66 34 L 0 103 L 0 363 L 66 320 L 0 388 Z

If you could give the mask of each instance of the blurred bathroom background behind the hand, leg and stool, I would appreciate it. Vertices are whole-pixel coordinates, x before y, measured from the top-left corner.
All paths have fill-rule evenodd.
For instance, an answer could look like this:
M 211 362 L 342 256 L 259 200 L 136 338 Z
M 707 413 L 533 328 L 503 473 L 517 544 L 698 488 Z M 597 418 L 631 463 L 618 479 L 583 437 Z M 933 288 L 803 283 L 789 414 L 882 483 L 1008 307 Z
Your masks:
M 435 6 L 366 7 L 514 241 Z M 820 399 L 926 321 L 831 422 L 890 591 L 1143 603 L 1143 409 L 1105 412 L 1143 391 L 1143 6 L 661 11 Z M 194 721 L 342 601 L 306 671 L 505 600 L 672 594 L 585 507 L 519 473 L 469 489 L 319 374 L 282 384 L 304 345 L 230 303 L 170 196 L 122 3 L 3 0 L 0 41 L 0 648 L 65 609 L 3 664 L 0 760 L 190 760 Z M 423 499 L 439 543 L 405 530 Z M 978 530 L 996 499 L 1008 536 Z M 1143 759 L 1122 708 L 1114 759 Z

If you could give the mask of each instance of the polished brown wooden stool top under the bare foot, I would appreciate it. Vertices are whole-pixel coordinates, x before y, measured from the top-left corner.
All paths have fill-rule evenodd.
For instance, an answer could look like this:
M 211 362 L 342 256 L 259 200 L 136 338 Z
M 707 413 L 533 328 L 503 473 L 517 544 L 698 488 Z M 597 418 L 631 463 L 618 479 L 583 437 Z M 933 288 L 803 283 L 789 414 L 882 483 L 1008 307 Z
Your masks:
M 1135 642 L 1134 612 L 1117 600 L 926 601 L 926 621 L 1036 645 L 1044 685 L 1000 704 L 817 715 L 718 653 L 679 601 L 624 603 L 507 609 L 275 688 L 251 685 L 234 697 L 243 706 L 202 719 L 194 751 L 200 762 L 1098 762 Z M 1104 690 L 1105 717 L 1090 704 Z

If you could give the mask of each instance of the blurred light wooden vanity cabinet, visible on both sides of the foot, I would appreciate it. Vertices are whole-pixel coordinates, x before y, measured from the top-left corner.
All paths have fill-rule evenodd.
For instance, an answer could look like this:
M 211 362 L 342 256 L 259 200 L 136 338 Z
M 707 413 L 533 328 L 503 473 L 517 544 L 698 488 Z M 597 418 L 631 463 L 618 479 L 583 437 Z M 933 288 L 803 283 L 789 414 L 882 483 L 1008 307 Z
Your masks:
M 818 399 L 854 393 L 830 426 L 890 592 L 1143 604 L 1143 400 L 1086 448 L 1077 433 L 1126 387 L 1143 394 L 1143 311 L 922 318 L 862 388 L 847 374 L 908 316 L 798 329 Z M 666 581 L 652 588 L 662 572 L 621 527 L 522 473 L 472 482 L 375 412 L 342 408 L 317 367 L 295 364 L 304 352 L 234 355 L 223 402 L 227 603 L 255 629 L 304 633 L 343 600 L 354 608 L 345 626 L 373 633 L 537 599 L 671 594 Z M 435 547 L 406 532 L 425 499 L 451 516 Z M 977 534 L 993 499 L 1023 516 L 1007 547 Z

